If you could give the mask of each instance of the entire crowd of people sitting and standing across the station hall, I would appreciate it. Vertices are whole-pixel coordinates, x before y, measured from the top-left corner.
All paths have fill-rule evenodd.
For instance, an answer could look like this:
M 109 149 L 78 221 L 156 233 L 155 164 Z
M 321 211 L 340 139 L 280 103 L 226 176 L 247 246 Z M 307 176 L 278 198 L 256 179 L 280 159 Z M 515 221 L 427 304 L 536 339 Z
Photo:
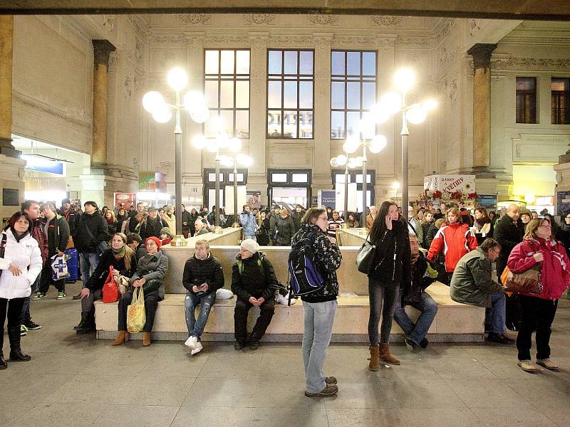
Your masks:
M 305 210 L 297 205 L 293 212 L 281 206 L 252 209 L 243 206 L 237 218 L 226 216 L 223 209 L 185 210 L 182 232 L 202 236 L 214 223 L 222 227 L 237 222 L 243 230 L 239 253 L 232 265 L 231 290 L 237 296 L 234 307 L 234 349 L 255 350 L 275 311 L 276 279 L 271 260 L 261 246 L 291 246 L 294 251 L 310 246 L 313 262 L 322 280 L 314 292 L 300 295 L 304 310 L 302 354 L 307 396 L 331 396 L 338 391 L 338 381 L 325 376 L 323 363 L 331 340 L 338 296 L 336 270 L 342 261 L 336 243 L 336 231 L 348 226 L 366 225 L 371 244 L 376 248 L 368 273 L 370 315 L 368 368 L 377 371 L 380 362 L 399 365 L 390 352 L 392 322 L 405 334 L 410 351 L 425 348 L 427 330 L 437 313 L 437 304 L 426 292 L 435 280 L 450 286 L 450 297 L 465 304 L 486 308 L 487 341 L 512 344 L 507 327 L 518 331 L 518 364 L 524 371 L 536 371 L 530 356 L 532 332 L 537 336 L 537 364 L 556 370 L 550 359 L 549 338 L 557 301 L 570 283 L 566 250 L 570 242 L 570 215 L 554 228 L 549 216 L 534 218 L 534 213 L 509 206 L 502 215 L 487 214 L 481 206 L 472 212 L 448 209 L 408 208 L 408 218 L 393 201 L 371 206 L 358 218 L 348 214 L 346 221 L 330 208 Z M 163 278 L 169 260 L 160 248 L 170 243 L 177 213 L 172 206 L 162 208 L 142 204 L 125 209 L 99 209 L 86 201 L 83 210 L 63 199 L 59 209 L 51 202 L 25 201 L 4 228 L 0 243 L 0 318 L 8 319 L 11 361 L 27 361 L 21 351 L 21 336 L 41 325 L 31 319 L 30 300 L 46 297 L 53 285 L 58 299 L 66 298 L 66 282 L 54 278 L 51 260 L 66 257 L 70 248 L 78 252 L 83 288 L 78 334 L 95 331 L 94 302 L 100 300 L 109 274 L 125 285 L 118 300 L 118 334 L 113 345 L 130 339 L 127 327 L 128 306 L 133 293 L 142 288 L 145 300 L 145 325 L 142 345 L 151 344 L 151 332 L 158 302 L 165 296 Z M 492 263 L 497 265 L 494 280 Z M 537 265 L 541 269 L 540 294 L 519 293 L 507 296 L 500 283 L 502 270 L 522 273 Z M 123 282 L 121 282 L 121 280 Z M 185 296 L 185 320 L 191 354 L 202 351 L 201 337 L 214 305 L 217 292 L 224 288 L 222 263 L 210 252 L 206 239 L 195 242 L 195 252 L 185 263 L 182 285 Z M 405 306 L 420 312 L 415 322 Z M 199 307 L 196 318 L 195 309 Z M 247 318 L 252 307 L 259 307 L 259 317 L 250 334 Z M 4 332 L 4 330 L 2 331 Z M 4 333 L 1 334 L 3 344 Z M 0 369 L 7 363 L 0 347 Z

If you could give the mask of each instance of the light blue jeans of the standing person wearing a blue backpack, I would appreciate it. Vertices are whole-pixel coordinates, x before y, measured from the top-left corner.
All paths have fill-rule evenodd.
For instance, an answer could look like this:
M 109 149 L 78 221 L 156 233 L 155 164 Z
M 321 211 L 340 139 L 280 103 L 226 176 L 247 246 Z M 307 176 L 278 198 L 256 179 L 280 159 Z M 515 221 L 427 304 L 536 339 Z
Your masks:
M 303 301 L 305 329 L 302 349 L 306 391 L 309 393 L 317 393 L 326 387 L 323 363 L 326 357 L 326 347 L 331 342 L 336 306 L 336 300 Z

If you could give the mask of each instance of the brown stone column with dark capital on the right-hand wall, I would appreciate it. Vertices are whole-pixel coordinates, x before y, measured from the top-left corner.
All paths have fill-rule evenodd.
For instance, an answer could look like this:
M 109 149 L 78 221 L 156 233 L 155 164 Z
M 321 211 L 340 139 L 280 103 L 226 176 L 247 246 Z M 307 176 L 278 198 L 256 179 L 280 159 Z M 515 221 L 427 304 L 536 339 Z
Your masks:
M 477 43 L 473 57 L 473 170 L 490 174 L 491 157 L 491 54 L 496 44 Z

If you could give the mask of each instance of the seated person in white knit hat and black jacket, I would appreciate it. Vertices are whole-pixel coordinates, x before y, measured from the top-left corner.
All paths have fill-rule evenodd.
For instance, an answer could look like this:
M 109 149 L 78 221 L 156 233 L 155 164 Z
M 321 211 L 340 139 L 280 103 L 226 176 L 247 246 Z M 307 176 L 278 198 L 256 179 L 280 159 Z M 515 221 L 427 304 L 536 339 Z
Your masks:
M 237 295 L 234 311 L 236 350 L 241 350 L 246 345 L 247 313 L 250 308 L 259 307 L 261 310 L 249 342 L 252 350 L 259 348 L 259 340 L 264 336 L 275 312 L 277 278 L 273 265 L 258 251 L 256 241 L 245 239 L 232 267 L 232 292 Z

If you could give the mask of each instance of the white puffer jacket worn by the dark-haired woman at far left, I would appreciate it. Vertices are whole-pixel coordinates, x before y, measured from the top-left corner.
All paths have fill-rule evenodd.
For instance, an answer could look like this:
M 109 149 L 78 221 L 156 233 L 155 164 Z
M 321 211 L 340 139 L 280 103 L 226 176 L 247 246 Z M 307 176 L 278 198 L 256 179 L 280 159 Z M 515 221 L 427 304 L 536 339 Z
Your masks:
M 6 248 L 4 258 L 0 258 L 0 298 L 11 300 L 13 298 L 29 297 L 31 284 L 41 272 L 41 251 L 38 242 L 29 234 L 20 241 L 16 241 L 10 229 L 3 231 L 6 234 Z M 0 235 L 0 241 L 1 241 Z M 12 275 L 8 270 L 11 263 L 17 265 L 22 274 Z

